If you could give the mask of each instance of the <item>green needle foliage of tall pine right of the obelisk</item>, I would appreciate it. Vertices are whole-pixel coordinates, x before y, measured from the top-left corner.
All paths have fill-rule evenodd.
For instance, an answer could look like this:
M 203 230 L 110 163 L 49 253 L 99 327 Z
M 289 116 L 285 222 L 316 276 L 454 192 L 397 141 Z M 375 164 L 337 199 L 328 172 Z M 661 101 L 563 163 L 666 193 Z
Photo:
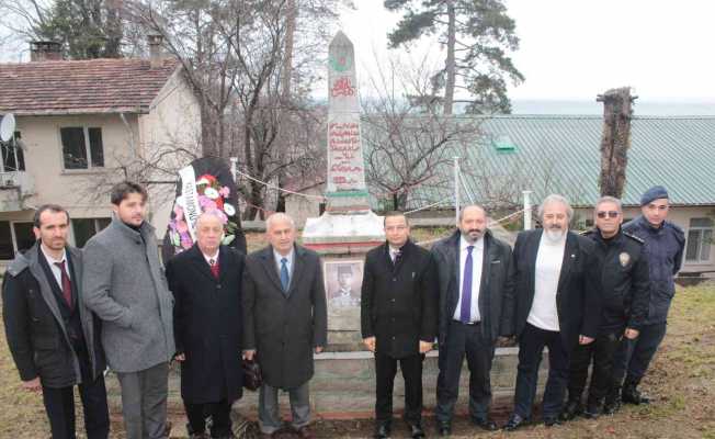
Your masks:
M 519 48 L 519 38 L 502 0 L 385 0 L 386 9 L 404 12 L 387 35 L 389 47 L 397 48 L 428 35 L 438 35 L 440 43 L 447 45 L 450 3 L 456 19 L 455 87 L 472 95 L 466 112 L 510 113 L 507 79 L 520 83 L 524 76 L 509 56 Z M 450 54 L 447 60 L 449 57 Z M 445 68 L 432 77 L 433 94 L 444 91 L 449 69 L 445 63 Z

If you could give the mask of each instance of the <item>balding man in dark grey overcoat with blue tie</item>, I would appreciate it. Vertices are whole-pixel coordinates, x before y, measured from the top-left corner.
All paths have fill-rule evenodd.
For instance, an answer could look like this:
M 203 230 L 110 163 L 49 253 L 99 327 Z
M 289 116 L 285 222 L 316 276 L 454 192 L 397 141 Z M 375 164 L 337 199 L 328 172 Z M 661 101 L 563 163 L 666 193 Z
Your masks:
M 295 244 L 295 224 L 283 213 L 265 222 L 270 243 L 246 258 L 243 269 L 243 354 L 258 357 L 263 373 L 259 425 L 270 437 L 281 428 L 279 389 L 288 392 L 293 428 L 311 438 L 308 381 L 313 353 L 328 337 L 320 257 Z

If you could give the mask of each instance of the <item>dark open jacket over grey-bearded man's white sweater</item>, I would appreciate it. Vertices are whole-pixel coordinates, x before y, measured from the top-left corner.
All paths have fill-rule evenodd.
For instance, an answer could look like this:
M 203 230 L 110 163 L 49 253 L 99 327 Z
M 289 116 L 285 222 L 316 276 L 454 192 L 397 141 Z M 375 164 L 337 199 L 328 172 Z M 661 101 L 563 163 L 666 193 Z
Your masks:
M 514 245 L 512 285 L 504 305 L 510 335 L 521 335 L 534 302 L 536 257 L 543 230 L 521 232 Z M 579 335 L 595 338 L 601 320 L 600 267 L 593 243 L 568 232 L 556 290 L 556 313 L 564 345 L 572 347 Z

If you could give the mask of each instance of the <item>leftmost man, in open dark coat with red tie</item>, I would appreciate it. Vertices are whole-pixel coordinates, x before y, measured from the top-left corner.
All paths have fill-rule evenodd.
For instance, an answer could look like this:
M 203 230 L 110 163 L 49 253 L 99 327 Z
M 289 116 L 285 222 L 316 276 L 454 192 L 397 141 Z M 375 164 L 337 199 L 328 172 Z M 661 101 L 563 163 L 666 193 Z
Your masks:
M 89 439 L 105 439 L 110 416 L 99 319 L 82 304 L 81 252 L 67 245 L 69 214 L 54 204 L 35 212 L 37 238 L 3 281 L 8 346 L 22 386 L 42 392 L 54 439 L 73 439 L 75 385 Z

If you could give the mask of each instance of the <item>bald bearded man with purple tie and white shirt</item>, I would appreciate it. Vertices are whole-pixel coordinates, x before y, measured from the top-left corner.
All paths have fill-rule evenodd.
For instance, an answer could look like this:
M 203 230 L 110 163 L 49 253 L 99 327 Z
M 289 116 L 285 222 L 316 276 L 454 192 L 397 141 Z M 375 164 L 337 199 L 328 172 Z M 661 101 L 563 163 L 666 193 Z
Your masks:
M 486 430 L 496 430 L 497 425 L 489 418 L 489 373 L 495 342 L 503 334 L 502 302 L 511 248 L 491 235 L 484 209 L 472 205 L 459 213 L 458 230 L 435 244 L 432 255 L 440 290 L 438 432 L 451 434 L 465 356 L 470 371 L 472 421 Z

